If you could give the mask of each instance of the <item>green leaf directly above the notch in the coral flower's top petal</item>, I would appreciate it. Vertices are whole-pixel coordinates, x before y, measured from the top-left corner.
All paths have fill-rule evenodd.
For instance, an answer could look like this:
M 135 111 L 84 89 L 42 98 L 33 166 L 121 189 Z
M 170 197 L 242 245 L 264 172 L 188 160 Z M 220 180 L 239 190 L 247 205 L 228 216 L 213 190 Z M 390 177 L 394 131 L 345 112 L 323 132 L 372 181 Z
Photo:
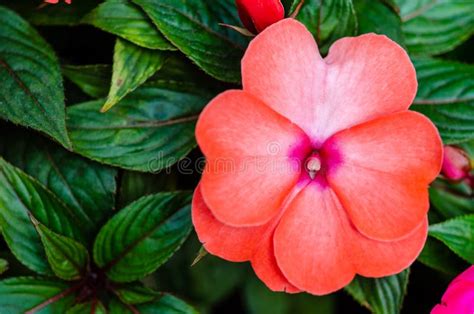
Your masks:
M 357 32 L 352 0 L 306 0 L 296 18 L 313 34 L 323 53 L 339 38 Z

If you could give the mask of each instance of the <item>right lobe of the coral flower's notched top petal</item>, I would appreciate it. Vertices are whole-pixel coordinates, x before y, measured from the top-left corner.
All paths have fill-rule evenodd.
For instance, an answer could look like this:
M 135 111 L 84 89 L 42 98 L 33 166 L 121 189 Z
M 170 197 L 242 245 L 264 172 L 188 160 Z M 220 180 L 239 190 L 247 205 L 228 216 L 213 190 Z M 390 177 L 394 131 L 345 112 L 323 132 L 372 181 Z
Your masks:
M 328 65 L 323 104 L 314 133 L 321 141 L 348 127 L 407 110 L 417 90 L 406 51 L 386 36 L 365 34 L 336 41 Z

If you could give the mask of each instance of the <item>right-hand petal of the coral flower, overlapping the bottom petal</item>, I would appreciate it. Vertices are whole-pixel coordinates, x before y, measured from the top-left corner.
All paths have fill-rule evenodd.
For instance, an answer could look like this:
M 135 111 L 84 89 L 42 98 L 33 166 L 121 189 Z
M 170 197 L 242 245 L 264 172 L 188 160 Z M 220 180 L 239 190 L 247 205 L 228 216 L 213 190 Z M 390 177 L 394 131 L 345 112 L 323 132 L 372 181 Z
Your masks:
M 441 139 L 426 117 L 406 111 L 376 119 L 336 134 L 327 148 L 341 159 L 327 173 L 329 185 L 362 234 L 396 240 L 423 222 L 442 162 Z

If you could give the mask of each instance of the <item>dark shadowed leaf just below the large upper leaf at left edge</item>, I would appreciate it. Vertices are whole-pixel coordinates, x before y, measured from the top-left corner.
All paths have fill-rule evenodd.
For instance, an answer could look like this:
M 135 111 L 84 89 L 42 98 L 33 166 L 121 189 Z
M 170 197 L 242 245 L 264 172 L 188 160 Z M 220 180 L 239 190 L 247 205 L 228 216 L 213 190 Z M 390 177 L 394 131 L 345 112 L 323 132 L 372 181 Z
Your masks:
M 117 171 L 87 160 L 24 130 L 0 128 L 11 136 L 0 155 L 40 181 L 73 212 L 89 240 L 112 213 Z

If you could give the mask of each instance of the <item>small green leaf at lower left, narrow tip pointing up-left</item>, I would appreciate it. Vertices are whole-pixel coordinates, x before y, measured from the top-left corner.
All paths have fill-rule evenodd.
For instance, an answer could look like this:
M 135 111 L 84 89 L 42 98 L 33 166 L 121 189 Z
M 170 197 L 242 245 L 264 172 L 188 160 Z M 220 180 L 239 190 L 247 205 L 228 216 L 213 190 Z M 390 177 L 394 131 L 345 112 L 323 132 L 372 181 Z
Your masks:
M 89 264 L 89 253 L 79 242 L 54 233 L 31 217 L 41 238 L 51 269 L 61 279 L 77 280 L 83 277 Z

